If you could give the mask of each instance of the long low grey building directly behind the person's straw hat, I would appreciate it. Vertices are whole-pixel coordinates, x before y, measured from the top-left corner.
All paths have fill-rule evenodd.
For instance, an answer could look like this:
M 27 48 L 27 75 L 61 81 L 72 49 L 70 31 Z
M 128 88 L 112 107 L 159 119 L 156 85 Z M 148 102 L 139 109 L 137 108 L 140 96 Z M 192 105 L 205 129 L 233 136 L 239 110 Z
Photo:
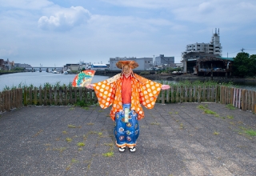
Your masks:
M 110 58 L 110 70 L 120 70 L 116 66 L 116 63 L 120 60 L 133 60 L 135 62 L 138 62 L 138 67 L 134 70 L 146 70 L 149 69 L 151 66 L 153 66 L 153 58 Z

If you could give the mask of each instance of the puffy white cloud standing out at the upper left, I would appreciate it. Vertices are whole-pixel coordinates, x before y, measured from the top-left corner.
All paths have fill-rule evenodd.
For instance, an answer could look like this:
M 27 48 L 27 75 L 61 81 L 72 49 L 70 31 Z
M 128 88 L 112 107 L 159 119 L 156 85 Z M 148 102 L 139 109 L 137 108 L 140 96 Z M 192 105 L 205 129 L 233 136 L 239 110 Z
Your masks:
M 38 27 L 42 30 L 71 30 L 74 26 L 88 22 L 90 16 L 90 12 L 82 6 L 71 6 L 69 9 L 58 10 L 49 18 L 42 16 L 38 20 Z

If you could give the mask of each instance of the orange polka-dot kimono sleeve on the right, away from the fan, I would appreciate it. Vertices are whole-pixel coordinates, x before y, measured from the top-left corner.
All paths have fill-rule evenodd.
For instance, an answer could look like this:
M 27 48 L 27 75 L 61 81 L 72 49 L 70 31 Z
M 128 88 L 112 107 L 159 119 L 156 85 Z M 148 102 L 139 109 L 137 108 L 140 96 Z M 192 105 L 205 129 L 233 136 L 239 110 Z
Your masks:
M 162 84 L 148 80 L 145 84 L 140 86 L 140 102 L 147 109 L 154 107 L 155 101 L 158 98 L 158 94 L 161 91 Z

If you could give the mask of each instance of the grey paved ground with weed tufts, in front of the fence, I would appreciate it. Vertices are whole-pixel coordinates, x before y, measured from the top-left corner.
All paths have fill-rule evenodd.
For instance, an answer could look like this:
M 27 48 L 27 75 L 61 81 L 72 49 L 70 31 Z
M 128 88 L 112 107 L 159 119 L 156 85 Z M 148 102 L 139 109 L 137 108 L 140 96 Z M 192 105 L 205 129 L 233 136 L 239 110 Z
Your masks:
M 144 110 L 135 153 L 114 146 L 110 109 L 28 106 L 0 114 L 0 175 L 256 175 L 256 137 L 246 134 L 256 130 L 251 112 L 216 103 Z

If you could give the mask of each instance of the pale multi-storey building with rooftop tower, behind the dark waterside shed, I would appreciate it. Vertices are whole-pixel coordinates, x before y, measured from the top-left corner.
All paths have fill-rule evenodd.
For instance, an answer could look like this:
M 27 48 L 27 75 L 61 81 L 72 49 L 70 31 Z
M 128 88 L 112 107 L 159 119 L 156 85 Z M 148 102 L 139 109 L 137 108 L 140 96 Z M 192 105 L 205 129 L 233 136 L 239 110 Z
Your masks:
M 206 57 L 221 57 L 222 46 L 220 43 L 219 30 L 215 29 L 215 33 L 211 37 L 210 43 L 194 43 L 186 46 L 186 50 L 182 52 L 183 72 L 193 73 L 196 61 L 199 58 Z

